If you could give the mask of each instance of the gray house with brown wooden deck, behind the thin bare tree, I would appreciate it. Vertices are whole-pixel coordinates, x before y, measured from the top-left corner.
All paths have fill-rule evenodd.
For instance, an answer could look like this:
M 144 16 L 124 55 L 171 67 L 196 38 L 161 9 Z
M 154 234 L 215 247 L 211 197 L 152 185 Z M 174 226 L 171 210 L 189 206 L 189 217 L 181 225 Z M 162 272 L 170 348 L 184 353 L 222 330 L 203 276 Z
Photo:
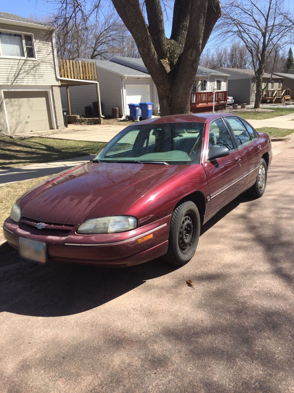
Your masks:
M 230 75 L 228 84 L 228 95 L 234 97 L 236 104 L 246 103 L 253 105 L 256 93 L 256 77 L 253 70 L 243 70 L 241 68 L 217 68 L 217 71 Z M 273 75 L 270 81 L 270 74 L 263 74 L 263 88 L 267 90 L 281 89 L 283 78 Z

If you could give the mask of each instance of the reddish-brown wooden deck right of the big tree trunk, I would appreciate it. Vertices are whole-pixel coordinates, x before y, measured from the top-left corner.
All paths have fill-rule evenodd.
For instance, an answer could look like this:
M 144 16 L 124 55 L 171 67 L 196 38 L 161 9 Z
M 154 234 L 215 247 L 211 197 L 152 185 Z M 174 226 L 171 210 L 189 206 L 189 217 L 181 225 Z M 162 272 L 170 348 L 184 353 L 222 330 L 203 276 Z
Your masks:
M 227 104 L 227 91 L 219 91 L 215 93 L 214 109 L 225 109 Z M 196 92 L 191 93 L 190 111 L 191 113 L 210 112 L 213 106 L 213 92 Z

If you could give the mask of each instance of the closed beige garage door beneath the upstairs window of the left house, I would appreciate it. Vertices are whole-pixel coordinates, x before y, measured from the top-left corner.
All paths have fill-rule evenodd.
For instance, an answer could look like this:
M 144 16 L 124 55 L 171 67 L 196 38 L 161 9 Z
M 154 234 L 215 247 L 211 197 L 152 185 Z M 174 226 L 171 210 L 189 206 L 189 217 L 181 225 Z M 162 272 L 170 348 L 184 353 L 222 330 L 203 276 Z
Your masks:
M 52 129 L 47 92 L 4 92 L 4 101 L 11 134 Z

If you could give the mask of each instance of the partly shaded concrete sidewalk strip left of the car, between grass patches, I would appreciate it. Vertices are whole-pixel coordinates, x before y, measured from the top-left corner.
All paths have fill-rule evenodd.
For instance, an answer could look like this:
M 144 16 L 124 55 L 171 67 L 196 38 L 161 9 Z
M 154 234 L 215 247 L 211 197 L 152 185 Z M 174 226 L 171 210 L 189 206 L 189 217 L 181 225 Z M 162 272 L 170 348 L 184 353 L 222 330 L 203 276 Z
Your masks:
M 41 176 L 50 176 L 54 173 L 65 171 L 84 162 L 93 160 L 94 155 L 76 157 L 60 161 L 43 162 L 38 164 L 26 165 L 24 167 L 4 169 L 0 171 L 0 186 L 30 180 Z

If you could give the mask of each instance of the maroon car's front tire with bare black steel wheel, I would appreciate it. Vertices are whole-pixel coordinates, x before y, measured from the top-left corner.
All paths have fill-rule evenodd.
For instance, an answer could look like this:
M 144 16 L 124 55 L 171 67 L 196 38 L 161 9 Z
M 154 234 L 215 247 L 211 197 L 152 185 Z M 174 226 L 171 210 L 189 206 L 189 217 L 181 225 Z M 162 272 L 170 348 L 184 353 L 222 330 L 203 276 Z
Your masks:
M 186 200 L 172 212 L 169 246 L 163 259 L 174 265 L 185 265 L 196 251 L 199 236 L 199 211 L 191 200 Z

